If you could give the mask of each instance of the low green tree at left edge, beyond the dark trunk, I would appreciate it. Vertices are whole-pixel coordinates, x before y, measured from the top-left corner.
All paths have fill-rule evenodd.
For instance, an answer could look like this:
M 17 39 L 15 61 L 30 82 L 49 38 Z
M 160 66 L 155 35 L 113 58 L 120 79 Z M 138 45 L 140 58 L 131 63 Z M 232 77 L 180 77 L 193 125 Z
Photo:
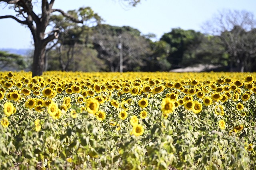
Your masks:
M 26 68 L 26 62 L 20 55 L 0 51 L 0 70 L 6 67 L 13 67 L 14 70 L 24 69 Z

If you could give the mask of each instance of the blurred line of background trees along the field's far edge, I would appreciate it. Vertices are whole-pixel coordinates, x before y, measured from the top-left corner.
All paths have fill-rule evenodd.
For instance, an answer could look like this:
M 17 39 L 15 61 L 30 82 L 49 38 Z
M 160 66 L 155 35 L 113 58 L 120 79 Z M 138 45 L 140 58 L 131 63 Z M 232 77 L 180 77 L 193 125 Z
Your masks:
M 48 36 L 52 38 L 44 43 L 45 50 L 40 57 L 43 64 L 40 68 L 44 70 L 120 71 L 122 56 L 124 72 L 169 71 L 197 64 L 204 65 L 206 71 L 210 64 L 218 71 L 256 71 L 256 21 L 247 11 L 221 11 L 204 23 L 206 33 L 173 28 L 158 41 L 152 41 L 154 34 L 142 35 L 129 26 L 102 24 L 103 19 L 90 7 L 66 13 L 49 11 L 60 14 L 49 14 L 47 18 L 52 28 Z M 1 55 L 2 63 L 5 60 L 12 63 L 13 60 L 5 59 L 6 53 Z M 35 67 L 33 63 L 32 71 Z

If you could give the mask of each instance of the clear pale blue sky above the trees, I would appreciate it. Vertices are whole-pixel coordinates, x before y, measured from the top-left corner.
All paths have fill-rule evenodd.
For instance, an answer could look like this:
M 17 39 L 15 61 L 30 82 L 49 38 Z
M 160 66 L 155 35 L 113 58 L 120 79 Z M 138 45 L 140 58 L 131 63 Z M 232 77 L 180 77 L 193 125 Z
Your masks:
M 120 0 L 56 0 L 54 4 L 64 11 L 82 6 L 90 6 L 106 24 L 131 26 L 142 34 L 154 33 L 158 39 L 177 27 L 202 31 L 203 23 L 218 10 L 246 10 L 256 18 L 256 0 L 141 0 L 134 8 Z M 0 5 L 0 16 L 7 14 L 14 12 Z M 1 19 L 0 48 L 33 48 L 29 29 L 13 19 Z

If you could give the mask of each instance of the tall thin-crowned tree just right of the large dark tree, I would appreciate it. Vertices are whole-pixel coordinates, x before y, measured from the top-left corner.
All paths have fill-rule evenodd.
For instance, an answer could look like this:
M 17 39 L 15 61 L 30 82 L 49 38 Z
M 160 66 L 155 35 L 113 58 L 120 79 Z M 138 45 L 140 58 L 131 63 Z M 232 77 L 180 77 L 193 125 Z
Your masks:
M 50 19 L 50 24 L 60 30 L 60 37 L 57 41 L 54 40 L 49 43 L 51 45 L 48 49 L 55 48 L 62 71 L 70 70 L 69 67 L 74 61 L 75 55 L 84 53 L 83 49 L 88 45 L 90 27 L 98 25 L 102 21 L 102 18 L 97 13 L 94 13 L 90 7 L 79 8 L 77 11 L 68 11 L 68 14 L 75 18 L 82 18 L 83 25 L 77 25 L 62 15 L 53 15 Z

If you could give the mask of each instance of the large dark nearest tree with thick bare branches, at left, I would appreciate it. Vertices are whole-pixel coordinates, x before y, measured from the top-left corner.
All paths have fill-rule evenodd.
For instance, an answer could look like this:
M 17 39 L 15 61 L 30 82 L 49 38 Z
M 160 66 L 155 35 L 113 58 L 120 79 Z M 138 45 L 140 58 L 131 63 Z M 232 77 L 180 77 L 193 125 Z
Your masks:
M 124 0 L 132 6 L 136 6 L 140 0 Z M 28 26 L 34 41 L 34 56 L 32 65 L 32 76 L 40 76 L 45 67 L 46 45 L 55 38 L 58 38 L 59 30 L 53 29 L 50 33 L 46 33 L 46 27 L 49 25 L 50 16 L 53 12 L 59 12 L 63 16 L 69 18 L 73 22 L 83 23 L 82 19 L 74 18 L 72 15 L 61 9 L 54 9 L 55 0 L 0 0 L 0 3 L 10 6 L 16 16 L 6 15 L 0 16 L 0 19 L 11 18 L 22 25 Z M 40 4 L 40 12 L 37 14 L 34 5 Z

